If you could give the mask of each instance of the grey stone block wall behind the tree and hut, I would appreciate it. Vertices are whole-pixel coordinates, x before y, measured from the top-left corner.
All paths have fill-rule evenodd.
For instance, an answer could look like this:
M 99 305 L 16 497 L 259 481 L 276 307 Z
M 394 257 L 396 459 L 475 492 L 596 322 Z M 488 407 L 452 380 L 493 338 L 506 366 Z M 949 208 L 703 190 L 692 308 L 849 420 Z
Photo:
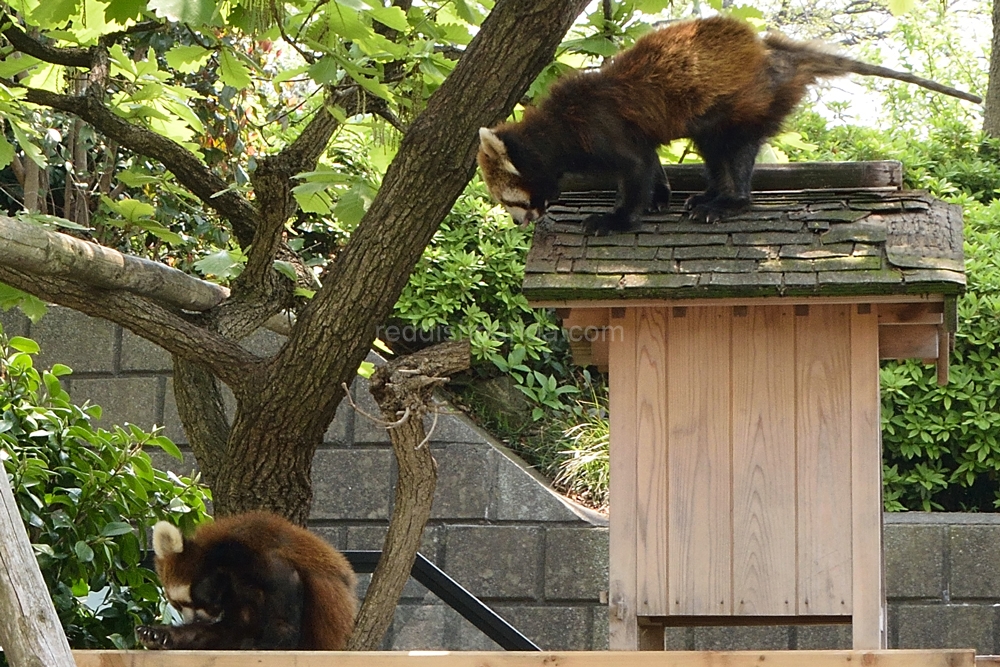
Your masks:
M 35 324 L 0 317 L 8 336 L 34 338 L 39 365 L 73 368 L 74 400 L 104 409 L 102 425 L 162 425 L 183 445 L 169 356 L 158 347 L 73 311 L 52 308 Z M 259 353 L 280 345 L 261 333 Z M 377 412 L 363 382 L 355 401 Z M 438 493 L 421 552 L 546 649 L 607 647 L 606 521 L 548 489 L 516 456 L 461 415 L 439 419 L 432 442 Z M 178 465 L 190 472 L 188 455 Z M 344 549 L 377 549 L 392 507 L 393 458 L 380 427 L 346 401 L 313 466 L 311 526 Z M 1000 517 L 886 515 L 890 645 L 968 647 L 1000 653 Z M 364 581 L 364 578 L 363 578 Z M 676 628 L 671 649 L 846 648 L 845 626 Z M 416 582 L 404 591 L 385 648 L 496 649 Z

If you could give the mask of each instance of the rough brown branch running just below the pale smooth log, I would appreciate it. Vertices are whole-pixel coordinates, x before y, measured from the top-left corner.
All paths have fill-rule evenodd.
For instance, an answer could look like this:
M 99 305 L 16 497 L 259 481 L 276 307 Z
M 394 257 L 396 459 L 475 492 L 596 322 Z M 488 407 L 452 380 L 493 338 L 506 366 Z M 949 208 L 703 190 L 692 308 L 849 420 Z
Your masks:
M 38 275 L 8 266 L 0 266 L 0 282 L 43 301 L 120 324 L 174 355 L 204 365 L 233 391 L 249 382 L 248 378 L 262 363 L 239 343 L 136 294 L 90 287 L 61 276 Z

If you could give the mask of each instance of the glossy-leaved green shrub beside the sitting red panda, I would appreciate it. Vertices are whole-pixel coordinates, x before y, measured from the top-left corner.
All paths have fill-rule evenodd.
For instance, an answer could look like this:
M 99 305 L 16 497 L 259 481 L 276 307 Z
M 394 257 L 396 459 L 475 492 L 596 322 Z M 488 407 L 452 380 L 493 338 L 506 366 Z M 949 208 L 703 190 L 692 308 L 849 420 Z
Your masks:
M 0 330 L 0 459 L 70 645 L 130 648 L 160 610 L 147 529 L 201 522 L 207 491 L 153 468 L 149 447 L 180 456 L 167 438 L 95 427 L 100 408 L 73 405 L 59 382 L 70 369 L 39 371 L 37 351 Z

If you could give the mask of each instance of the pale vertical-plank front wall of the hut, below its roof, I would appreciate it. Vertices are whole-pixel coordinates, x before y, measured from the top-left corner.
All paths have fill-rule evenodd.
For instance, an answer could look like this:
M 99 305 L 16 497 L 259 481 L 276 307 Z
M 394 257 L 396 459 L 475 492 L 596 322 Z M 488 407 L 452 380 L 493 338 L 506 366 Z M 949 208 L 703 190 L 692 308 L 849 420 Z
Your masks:
M 860 309 L 623 309 L 612 601 L 650 617 L 845 616 L 860 590 L 875 630 L 856 647 L 884 647 L 878 322 Z M 611 648 L 634 648 L 614 616 Z

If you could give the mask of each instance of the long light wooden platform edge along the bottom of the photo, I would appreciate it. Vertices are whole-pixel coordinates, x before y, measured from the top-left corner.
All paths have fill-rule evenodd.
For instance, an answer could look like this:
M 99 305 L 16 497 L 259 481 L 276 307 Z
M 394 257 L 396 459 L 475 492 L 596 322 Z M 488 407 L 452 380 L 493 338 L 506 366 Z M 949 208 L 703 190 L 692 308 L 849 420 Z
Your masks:
M 975 667 L 968 650 L 74 651 L 77 667 Z

